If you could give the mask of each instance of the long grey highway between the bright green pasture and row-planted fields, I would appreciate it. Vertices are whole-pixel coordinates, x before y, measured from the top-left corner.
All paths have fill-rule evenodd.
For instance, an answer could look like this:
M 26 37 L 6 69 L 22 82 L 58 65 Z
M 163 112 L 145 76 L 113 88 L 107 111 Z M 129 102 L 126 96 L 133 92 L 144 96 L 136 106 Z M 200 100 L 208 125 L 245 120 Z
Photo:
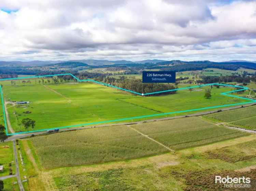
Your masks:
M 235 107 L 229 107 L 229 108 L 220 108 L 218 110 L 214 110 L 214 111 L 205 111 L 205 112 L 199 112 L 196 114 L 190 114 L 190 115 L 184 115 L 184 116 L 176 116 L 176 117 L 166 117 L 166 118 L 160 118 L 160 119 L 150 119 L 150 120 L 145 120 L 145 121 L 138 121 L 138 122 L 126 122 L 126 123 L 115 123 L 115 124 L 102 124 L 102 125 L 97 125 L 97 127 L 105 127 L 105 126 L 114 126 L 114 125 L 129 125 L 129 124 L 139 124 L 139 123 L 145 123 L 145 122 L 153 122 L 153 121 L 163 121 L 163 120 L 169 120 L 169 119 L 179 119 L 179 118 L 185 118 L 185 117 L 196 117 L 196 116 L 203 116 L 203 115 L 207 115 L 207 114 L 213 114 L 216 113 L 218 111 L 228 111 L 228 110 L 233 110 L 233 109 L 238 109 L 238 108 L 244 108 L 244 107 L 249 107 L 252 105 L 256 105 L 255 103 L 252 104 L 246 104 L 246 105 L 239 105 L 239 106 L 235 106 Z M 85 129 L 85 128 L 91 128 L 93 126 L 85 126 L 85 127 L 73 127 L 73 128 L 66 128 L 66 129 L 60 129 L 60 132 L 63 131 L 72 131 L 72 130 L 77 130 L 77 129 Z M 246 130 L 246 129 L 245 129 Z M 243 130 L 241 130 L 243 131 Z M 34 133 L 28 133 L 28 134 L 20 134 L 20 135 L 14 135 L 9 137 L 8 139 L 6 139 L 6 141 L 12 141 L 15 139 L 22 139 L 22 138 L 26 138 L 26 137 L 30 137 L 31 135 L 42 135 L 42 134 L 47 134 L 47 132 L 34 132 Z

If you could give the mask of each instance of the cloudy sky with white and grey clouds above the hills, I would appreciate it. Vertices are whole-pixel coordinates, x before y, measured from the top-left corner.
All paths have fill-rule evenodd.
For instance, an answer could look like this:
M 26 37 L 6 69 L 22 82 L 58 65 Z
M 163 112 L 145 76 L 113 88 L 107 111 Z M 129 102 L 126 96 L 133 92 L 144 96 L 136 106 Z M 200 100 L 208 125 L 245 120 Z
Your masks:
M 0 0 L 0 60 L 256 60 L 256 0 Z

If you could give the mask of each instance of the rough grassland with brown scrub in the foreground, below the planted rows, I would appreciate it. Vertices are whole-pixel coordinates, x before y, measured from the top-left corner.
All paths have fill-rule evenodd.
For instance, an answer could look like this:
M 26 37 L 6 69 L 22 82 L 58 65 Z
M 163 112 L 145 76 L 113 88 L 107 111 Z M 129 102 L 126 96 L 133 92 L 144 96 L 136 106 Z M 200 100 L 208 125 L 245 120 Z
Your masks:
M 255 149 L 256 136 L 249 135 L 188 147 L 175 154 L 43 170 L 40 177 L 47 180 L 47 184 L 38 191 L 182 191 L 194 186 L 202 190 L 215 189 L 216 185 L 211 183 L 215 174 L 254 178 Z M 195 179 L 202 179 L 207 184 L 202 185 L 193 181 Z

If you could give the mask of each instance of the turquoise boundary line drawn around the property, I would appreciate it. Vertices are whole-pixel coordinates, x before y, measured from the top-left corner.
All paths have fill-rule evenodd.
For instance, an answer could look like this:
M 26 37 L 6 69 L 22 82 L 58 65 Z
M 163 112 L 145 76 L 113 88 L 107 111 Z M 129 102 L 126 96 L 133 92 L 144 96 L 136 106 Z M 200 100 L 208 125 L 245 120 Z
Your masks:
M 8 128 L 7 128 L 7 123 L 6 123 L 6 115 L 5 115 L 5 107 L 4 107 L 4 98 L 3 98 L 3 91 L 2 91 L 2 86 L 0 86 L 0 92 L 1 92 L 1 103 L 2 103 L 2 109 L 3 109 L 3 118 L 4 118 L 4 126 L 5 126 L 5 133 L 8 136 L 11 135 L 18 135 L 18 134 L 27 134 L 27 133 L 34 133 L 34 132 L 42 132 L 42 131 L 47 131 L 47 130 L 54 130 L 54 129 L 63 129 L 63 128 L 72 128 L 72 127 L 81 127 L 81 126 L 86 126 L 86 125 L 96 125 L 96 124 L 103 124 L 103 123 L 111 123 L 111 122 L 117 122 L 117 121 L 125 121 L 125 120 L 132 120 L 132 119 L 141 119 L 141 118 L 147 118 L 147 117 L 156 117 L 156 116 L 164 116 L 164 115 L 170 115 L 170 114 L 177 114 L 177 113 L 183 113 L 183 112 L 190 112 L 190 111 L 198 111 L 198 110 L 204 110 L 204 109 L 213 109 L 213 108 L 219 108 L 219 107 L 228 107 L 228 106 L 236 106 L 236 105 L 244 105 L 244 104 L 251 104 L 255 103 L 256 100 L 250 99 L 250 98 L 243 98 L 239 97 L 236 95 L 230 95 L 229 93 L 233 92 L 238 92 L 238 91 L 244 91 L 247 90 L 248 87 L 243 87 L 243 86 L 236 86 L 236 85 L 229 85 L 229 84 L 218 84 L 218 83 L 212 83 L 212 84 L 204 84 L 204 85 L 199 85 L 199 86 L 191 86 L 191 87 L 185 87 L 185 88 L 177 88 L 177 89 L 172 89 L 172 90 L 165 90 L 165 91 L 157 91 L 157 92 L 152 92 L 152 93 L 138 93 L 132 90 L 112 86 L 110 84 L 98 82 L 95 80 L 91 79 L 86 79 L 86 80 L 80 80 L 77 77 L 75 77 L 71 73 L 67 74 L 54 74 L 54 75 L 40 75 L 40 76 L 26 76 L 26 77 L 16 77 L 16 78 L 6 78 L 6 79 L 0 79 L 0 81 L 6 81 L 6 80 L 22 80 L 22 79 L 31 79 L 31 78 L 41 78 L 41 77 L 53 77 L 53 76 L 63 76 L 63 75 L 71 75 L 76 81 L 78 82 L 94 82 L 97 84 L 101 84 L 104 86 L 124 90 L 130 93 L 134 93 L 137 95 L 151 95 L 151 94 L 156 94 L 156 93 L 163 93 L 163 92 L 169 92 L 169 91 L 177 91 L 177 90 L 184 90 L 184 89 L 191 89 L 191 88 L 197 88 L 197 87 L 203 87 L 203 86 L 212 86 L 212 85 L 218 85 L 218 86 L 228 86 L 228 87 L 235 87 L 235 88 L 241 88 L 239 90 L 234 90 L 234 91 L 228 91 L 228 92 L 223 92 L 221 93 L 222 95 L 226 95 L 228 97 L 233 97 L 233 98 L 238 98 L 238 99 L 243 99 L 243 100 L 248 100 L 250 102 L 243 102 L 243 103 L 235 103 L 235 104 L 227 104 L 227 105 L 218 105 L 218 106 L 210 106 L 210 107 L 202 107 L 198 109 L 189 109 L 189 110 L 183 110 L 183 111 L 174 111 L 174 112 L 167 112 L 167 113 L 162 113 L 162 114 L 153 114 L 153 115 L 145 115 L 145 116 L 136 116 L 136 117 L 130 117 L 130 118 L 122 118 L 122 119 L 115 119 L 115 120 L 109 120 L 109 121 L 100 121 L 100 122 L 92 122 L 92 123 L 85 123 L 85 124 L 78 124 L 78 125 L 69 125 L 69 126 L 63 126 L 63 127 L 54 127 L 54 128 L 47 128 L 47 129 L 40 129 L 40 130 L 35 130 L 35 131 L 27 131 L 27 132 L 19 132 L 19 133 L 8 133 Z

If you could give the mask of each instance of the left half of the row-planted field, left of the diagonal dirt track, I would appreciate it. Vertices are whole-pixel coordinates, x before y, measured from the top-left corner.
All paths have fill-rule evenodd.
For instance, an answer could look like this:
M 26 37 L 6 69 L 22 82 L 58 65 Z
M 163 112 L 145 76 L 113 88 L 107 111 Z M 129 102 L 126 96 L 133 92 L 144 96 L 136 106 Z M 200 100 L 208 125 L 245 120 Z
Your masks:
M 97 127 L 31 139 L 45 169 L 138 158 L 168 150 L 127 126 Z

